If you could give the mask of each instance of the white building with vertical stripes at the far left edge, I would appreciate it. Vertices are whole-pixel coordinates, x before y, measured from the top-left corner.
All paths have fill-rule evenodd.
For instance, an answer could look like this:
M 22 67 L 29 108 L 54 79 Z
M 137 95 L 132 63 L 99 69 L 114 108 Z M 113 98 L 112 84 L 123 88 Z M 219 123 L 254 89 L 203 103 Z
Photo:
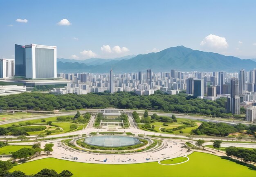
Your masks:
M 0 78 L 9 78 L 14 76 L 14 59 L 0 59 Z

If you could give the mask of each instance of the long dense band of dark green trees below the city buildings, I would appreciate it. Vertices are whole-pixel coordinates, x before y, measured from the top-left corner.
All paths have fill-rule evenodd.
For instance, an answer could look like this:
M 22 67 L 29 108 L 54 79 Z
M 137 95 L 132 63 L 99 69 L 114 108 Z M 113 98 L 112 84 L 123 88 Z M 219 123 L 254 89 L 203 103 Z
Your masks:
M 178 95 L 153 94 L 138 96 L 134 92 L 117 92 L 115 94 L 89 93 L 76 94 L 40 94 L 22 93 L 0 97 L 0 109 L 34 109 L 54 110 L 64 108 L 74 110 L 81 108 L 148 109 L 179 111 L 182 113 L 200 113 L 212 116 L 227 116 L 225 98 L 209 101 L 194 98 L 184 93 Z M 229 115 L 231 116 L 231 115 Z

